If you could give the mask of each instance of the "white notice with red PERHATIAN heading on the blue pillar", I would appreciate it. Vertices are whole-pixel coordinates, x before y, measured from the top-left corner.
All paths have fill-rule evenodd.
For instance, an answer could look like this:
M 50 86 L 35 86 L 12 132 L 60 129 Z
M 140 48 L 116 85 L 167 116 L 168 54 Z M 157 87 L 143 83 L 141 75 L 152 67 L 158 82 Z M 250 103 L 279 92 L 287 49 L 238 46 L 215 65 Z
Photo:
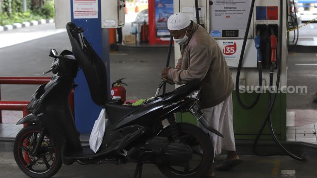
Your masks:
M 73 0 L 74 18 L 98 18 L 98 0 Z

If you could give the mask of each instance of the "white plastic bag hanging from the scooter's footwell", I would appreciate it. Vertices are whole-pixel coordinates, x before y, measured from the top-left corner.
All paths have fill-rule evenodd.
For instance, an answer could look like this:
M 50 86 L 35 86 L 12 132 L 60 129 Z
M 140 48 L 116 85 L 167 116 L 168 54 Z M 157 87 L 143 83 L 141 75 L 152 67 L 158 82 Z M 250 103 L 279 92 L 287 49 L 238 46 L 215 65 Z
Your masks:
M 107 121 L 108 119 L 106 119 L 105 109 L 102 109 L 100 111 L 98 120 L 95 121 L 94 127 L 89 137 L 90 149 L 92 149 L 95 153 L 97 153 L 102 143 L 105 125 L 107 124 Z

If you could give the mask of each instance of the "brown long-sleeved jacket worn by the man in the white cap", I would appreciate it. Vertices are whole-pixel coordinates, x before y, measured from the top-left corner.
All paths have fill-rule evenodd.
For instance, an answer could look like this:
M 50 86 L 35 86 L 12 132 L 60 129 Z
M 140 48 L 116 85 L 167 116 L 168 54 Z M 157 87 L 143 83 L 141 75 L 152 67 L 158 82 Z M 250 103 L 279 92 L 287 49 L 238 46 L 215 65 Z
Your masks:
M 217 42 L 203 27 L 193 22 L 188 40 L 182 47 L 182 58 L 176 69 L 168 71 L 168 78 L 179 85 L 200 80 L 198 105 L 214 107 L 225 101 L 234 89 L 231 72 Z

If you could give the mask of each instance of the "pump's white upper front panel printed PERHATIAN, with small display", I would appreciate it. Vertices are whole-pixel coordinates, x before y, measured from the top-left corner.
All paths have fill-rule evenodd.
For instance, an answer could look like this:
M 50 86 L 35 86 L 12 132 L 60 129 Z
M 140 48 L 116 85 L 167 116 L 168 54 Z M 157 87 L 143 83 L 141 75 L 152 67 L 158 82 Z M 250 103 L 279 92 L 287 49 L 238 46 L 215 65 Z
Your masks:
M 213 0 L 210 5 L 210 31 L 222 32 L 221 36 L 214 37 L 243 38 L 250 3 L 251 0 Z

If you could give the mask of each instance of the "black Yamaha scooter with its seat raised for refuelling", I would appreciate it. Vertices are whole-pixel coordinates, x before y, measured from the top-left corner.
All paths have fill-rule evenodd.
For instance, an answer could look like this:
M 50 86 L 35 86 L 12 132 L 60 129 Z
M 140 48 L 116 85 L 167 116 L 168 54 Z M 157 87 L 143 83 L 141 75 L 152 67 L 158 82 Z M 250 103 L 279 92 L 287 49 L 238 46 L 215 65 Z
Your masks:
M 143 163 L 156 164 L 168 178 L 200 178 L 214 159 L 213 145 L 198 126 L 176 123 L 174 113 L 190 111 L 208 130 L 222 136 L 203 118 L 195 104 L 199 99 L 198 82 L 186 84 L 155 97 L 141 106 L 124 106 L 109 100 L 105 66 L 83 36 L 83 29 L 67 23 L 73 49 L 50 51 L 54 58 L 49 83 L 33 94 L 28 110 L 32 113 L 17 125 L 27 124 L 18 134 L 14 157 L 19 168 L 33 178 L 49 178 L 62 163 L 81 164 L 137 163 L 134 177 L 141 177 Z M 105 108 L 108 122 L 100 150 L 94 153 L 82 146 L 68 105 L 67 96 L 75 84 L 78 69 L 83 69 L 94 103 Z M 48 72 L 50 72 L 48 71 Z M 163 127 L 162 121 L 169 124 Z

